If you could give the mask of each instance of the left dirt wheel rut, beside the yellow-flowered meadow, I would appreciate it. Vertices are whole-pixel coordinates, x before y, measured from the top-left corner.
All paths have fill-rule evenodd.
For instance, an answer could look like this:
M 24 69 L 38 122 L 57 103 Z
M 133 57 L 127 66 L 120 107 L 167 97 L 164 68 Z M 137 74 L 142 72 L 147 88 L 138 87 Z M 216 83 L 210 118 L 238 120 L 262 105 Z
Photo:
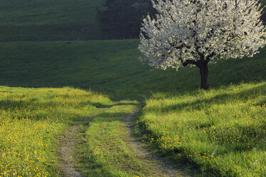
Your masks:
M 78 132 L 79 124 L 73 124 L 66 128 L 65 133 L 63 133 L 63 138 L 61 138 L 59 145 L 59 156 L 61 160 L 58 164 L 58 167 L 61 169 L 59 176 L 81 177 L 81 173 L 74 166 Z

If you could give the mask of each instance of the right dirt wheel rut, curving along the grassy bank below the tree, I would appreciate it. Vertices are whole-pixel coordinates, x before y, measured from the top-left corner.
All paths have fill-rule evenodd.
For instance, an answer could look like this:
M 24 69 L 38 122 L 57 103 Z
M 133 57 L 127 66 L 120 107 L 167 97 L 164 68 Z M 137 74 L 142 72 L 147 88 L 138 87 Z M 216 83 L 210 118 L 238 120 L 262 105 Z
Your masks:
M 145 163 L 146 166 L 153 168 L 156 172 L 152 176 L 185 176 L 183 171 L 180 171 L 178 168 L 175 167 L 174 163 L 171 161 L 166 161 L 164 158 L 156 156 L 154 153 L 145 148 L 145 144 L 143 142 L 138 141 L 136 136 L 133 134 L 133 122 L 136 113 L 138 113 L 140 106 L 135 108 L 133 113 L 130 113 L 126 116 L 125 119 L 125 126 L 130 131 L 130 137 L 126 137 L 126 141 L 128 146 L 132 147 L 132 151 L 138 156 L 138 158 Z

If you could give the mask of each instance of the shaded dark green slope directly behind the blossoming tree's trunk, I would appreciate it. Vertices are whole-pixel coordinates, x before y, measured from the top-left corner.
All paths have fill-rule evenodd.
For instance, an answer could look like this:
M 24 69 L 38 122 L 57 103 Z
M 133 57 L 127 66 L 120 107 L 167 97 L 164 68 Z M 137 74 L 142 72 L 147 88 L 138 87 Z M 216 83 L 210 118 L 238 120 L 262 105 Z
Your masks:
M 138 40 L 0 43 L 0 85 L 100 91 L 111 98 L 145 98 L 156 91 L 195 91 L 198 68 L 150 71 L 138 61 Z M 265 49 L 253 58 L 210 65 L 210 87 L 266 79 Z

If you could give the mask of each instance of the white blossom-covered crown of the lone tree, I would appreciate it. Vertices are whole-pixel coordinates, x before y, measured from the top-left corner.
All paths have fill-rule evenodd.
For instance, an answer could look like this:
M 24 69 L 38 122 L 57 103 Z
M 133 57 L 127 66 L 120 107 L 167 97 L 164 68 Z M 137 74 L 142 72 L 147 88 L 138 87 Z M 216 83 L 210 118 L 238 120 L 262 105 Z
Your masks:
M 143 19 L 140 61 L 159 69 L 253 56 L 265 46 L 261 5 L 255 0 L 158 0 Z

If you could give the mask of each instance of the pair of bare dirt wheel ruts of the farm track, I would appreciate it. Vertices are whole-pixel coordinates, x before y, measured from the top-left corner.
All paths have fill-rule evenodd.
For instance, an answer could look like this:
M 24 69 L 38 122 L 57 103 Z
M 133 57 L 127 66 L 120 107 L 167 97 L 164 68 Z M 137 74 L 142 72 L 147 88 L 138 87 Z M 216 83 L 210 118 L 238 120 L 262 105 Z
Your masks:
M 96 112 L 103 112 L 103 109 L 99 108 Z M 135 121 L 135 116 L 138 113 L 140 106 L 136 106 L 135 111 L 128 114 L 125 120 L 123 121 L 124 126 L 128 133 L 125 133 L 125 141 L 128 144 L 128 147 L 135 153 L 138 159 L 145 164 L 150 169 L 153 169 L 153 173 L 148 176 L 160 176 L 160 177 L 174 177 L 174 176 L 185 176 L 184 173 L 178 168 L 175 167 L 173 162 L 165 161 L 164 158 L 155 155 L 148 148 L 145 148 L 145 143 L 138 141 L 138 138 L 133 134 L 133 122 Z M 80 125 L 88 121 L 87 118 L 83 118 L 83 121 L 78 121 L 76 124 L 73 124 L 66 128 L 63 133 L 63 138 L 60 139 L 59 146 L 59 156 L 60 163 L 58 168 L 61 169 L 59 176 L 60 177 L 81 177 L 81 172 L 77 171 L 75 168 L 75 151 L 76 151 L 76 140 L 78 139 L 78 134 L 80 131 Z M 128 136 L 129 135 L 129 136 Z

